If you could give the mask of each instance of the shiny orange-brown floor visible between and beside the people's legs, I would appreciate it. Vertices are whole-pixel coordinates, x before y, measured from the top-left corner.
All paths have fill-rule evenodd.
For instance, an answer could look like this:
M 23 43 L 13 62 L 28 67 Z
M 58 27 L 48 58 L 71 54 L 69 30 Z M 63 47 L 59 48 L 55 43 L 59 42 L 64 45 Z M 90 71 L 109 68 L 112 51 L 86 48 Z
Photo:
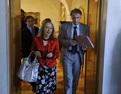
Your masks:
M 91 66 L 89 66 L 89 67 L 91 67 Z M 57 89 L 52 94 L 64 94 L 64 89 L 63 89 L 63 70 L 62 70 L 62 68 L 63 68 L 62 64 L 59 64 L 59 62 L 58 62 L 57 63 Z M 84 76 L 84 74 L 83 74 L 83 72 L 81 70 L 79 84 L 78 84 L 78 88 L 77 88 L 77 93 L 76 94 L 84 94 L 84 77 L 85 76 Z M 88 78 L 88 79 L 90 79 L 90 78 Z M 20 91 L 18 91 L 18 92 L 20 92 Z M 20 94 L 35 94 L 35 93 L 32 92 L 32 87 L 31 87 L 30 84 L 28 84 L 27 82 L 22 81 L 21 82 L 21 93 Z M 89 93 L 87 93 L 87 94 L 89 94 Z

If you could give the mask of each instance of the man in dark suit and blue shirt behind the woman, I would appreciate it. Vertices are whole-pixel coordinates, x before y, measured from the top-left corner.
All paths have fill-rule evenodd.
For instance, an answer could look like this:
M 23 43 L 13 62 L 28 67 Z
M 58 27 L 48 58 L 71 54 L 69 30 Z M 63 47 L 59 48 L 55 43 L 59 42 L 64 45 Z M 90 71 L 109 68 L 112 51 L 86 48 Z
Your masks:
M 39 28 L 33 26 L 34 18 L 27 16 L 25 18 L 27 27 L 22 30 L 22 58 L 28 57 L 31 52 L 33 37 L 37 35 Z

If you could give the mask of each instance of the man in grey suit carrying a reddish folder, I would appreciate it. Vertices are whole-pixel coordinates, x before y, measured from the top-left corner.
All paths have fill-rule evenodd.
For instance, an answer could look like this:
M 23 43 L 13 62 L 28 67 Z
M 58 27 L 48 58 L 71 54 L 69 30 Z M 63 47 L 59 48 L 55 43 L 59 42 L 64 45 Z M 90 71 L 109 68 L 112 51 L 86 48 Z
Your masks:
M 75 35 L 89 35 L 89 27 L 79 22 L 82 12 L 75 8 L 70 15 L 72 23 L 62 24 L 58 36 L 62 46 L 60 60 L 63 63 L 64 94 L 76 94 L 80 68 L 83 66 L 84 52 L 87 50 L 86 45 L 79 47 Z

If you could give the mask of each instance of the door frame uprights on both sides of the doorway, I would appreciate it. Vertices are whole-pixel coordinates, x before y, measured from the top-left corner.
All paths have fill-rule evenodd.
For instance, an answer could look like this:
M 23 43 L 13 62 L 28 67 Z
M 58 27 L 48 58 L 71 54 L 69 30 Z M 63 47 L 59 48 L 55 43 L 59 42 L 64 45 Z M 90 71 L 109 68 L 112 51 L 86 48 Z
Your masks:
M 10 21 L 10 14 L 11 14 L 11 6 L 10 6 L 10 0 L 5 0 L 5 7 L 6 7 L 6 22 L 7 23 L 7 30 L 6 30 L 6 33 L 7 33 L 7 39 L 8 41 L 6 41 L 6 44 L 8 44 L 8 50 L 7 50 L 7 54 L 8 54 L 8 74 L 9 74 L 9 77 L 7 78 L 7 81 L 8 81 L 8 86 L 7 86 L 7 89 L 8 89 L 8 92 L 9 94 L 12 94 L 11 93 L 11 76 L 12 74 L 10 73 L 11 72 L 11 67 L 10 67 L 10 54 L 11 54 L 11 51 L 10 51 L 10 47 L 11 47 L 11 44 L 10 44 L 10 37 L 11 37 L 11 34 L 10 34 L 10 26 L 11 26 L 11 21 Z M 108 5 L 108 0 L 101 0 L 101 14 L 100 14 L 100 26 L 99 26 L 99 44 L 98 44 L 98 57 L 97 57 L 97 84 L 96 84 L 96 94 L 102 94 L 102 84 L 103 84 L 103 64 L 104 64 L 104 47 L 105 47 L 105 33 L 106 33 L 106 17 L 107 17 L 107 5 Z M 10 71 L 9 71 L 10 70 Z

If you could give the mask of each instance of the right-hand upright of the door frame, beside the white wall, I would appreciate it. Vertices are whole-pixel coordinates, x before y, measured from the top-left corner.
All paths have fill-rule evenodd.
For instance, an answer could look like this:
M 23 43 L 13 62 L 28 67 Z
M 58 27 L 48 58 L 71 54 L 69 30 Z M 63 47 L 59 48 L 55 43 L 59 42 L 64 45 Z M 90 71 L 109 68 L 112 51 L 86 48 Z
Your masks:
M 96 94 L 102 94 L 103 88 L 103 67 L 104 67 L 104 52 L 105 52 L 105 34 L 107 20 L 108 0 L 100 1 L 100 21 L 98 33 L 98 48 L 97 48 L 97 75 L 96 75 Z

